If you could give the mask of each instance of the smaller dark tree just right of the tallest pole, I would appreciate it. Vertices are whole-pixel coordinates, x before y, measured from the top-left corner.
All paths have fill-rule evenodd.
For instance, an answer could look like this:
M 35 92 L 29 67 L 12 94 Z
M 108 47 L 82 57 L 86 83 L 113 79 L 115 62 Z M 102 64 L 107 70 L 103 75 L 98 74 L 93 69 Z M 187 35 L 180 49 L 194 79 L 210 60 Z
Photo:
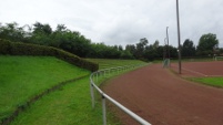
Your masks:
M 186 39 L 182 46 L 182 56 L 194 56 L 195 55 L 195 45 L 193 41 Z

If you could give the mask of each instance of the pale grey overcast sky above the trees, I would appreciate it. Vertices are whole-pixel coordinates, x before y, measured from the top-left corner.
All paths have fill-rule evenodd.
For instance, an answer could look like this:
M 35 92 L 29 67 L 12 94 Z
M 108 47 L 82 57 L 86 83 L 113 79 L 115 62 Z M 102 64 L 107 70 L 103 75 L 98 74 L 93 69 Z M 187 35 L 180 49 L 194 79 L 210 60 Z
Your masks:
M 181 43 L 191 39 L 197 45 L 202 34 L 214 33 L 223 46 L 223 0 L 179 0 L 179 6 Z M 162 45 L 169 27 L 170 44 L 176 46 L 175 8 L 175 0 L 1 0 L 0 22 L 65 24 L 108 45 L 142 38 Z

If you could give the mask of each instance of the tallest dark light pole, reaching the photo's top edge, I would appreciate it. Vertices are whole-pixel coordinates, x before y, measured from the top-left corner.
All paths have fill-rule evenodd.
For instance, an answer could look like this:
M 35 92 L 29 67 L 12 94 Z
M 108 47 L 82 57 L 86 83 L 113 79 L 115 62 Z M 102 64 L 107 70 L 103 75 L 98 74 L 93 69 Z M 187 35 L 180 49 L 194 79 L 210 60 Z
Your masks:
M 179 19 L 179 0 L 176 0 L 176 21 L 178 21 L 178 39 L 179 39 L 179 74 L 181 74 L 181 33 Z

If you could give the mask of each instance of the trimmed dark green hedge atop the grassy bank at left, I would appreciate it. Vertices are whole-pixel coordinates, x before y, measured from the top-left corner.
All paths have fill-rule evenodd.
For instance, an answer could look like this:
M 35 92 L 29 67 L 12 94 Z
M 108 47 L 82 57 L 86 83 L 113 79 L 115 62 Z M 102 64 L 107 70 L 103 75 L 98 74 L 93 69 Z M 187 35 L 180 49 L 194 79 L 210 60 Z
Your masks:
M 92 72 L 99 69 L 99 64 L 89 62 L 60 49 L 55 49 L 52 46 L 37 45 L 37 44 L 28 44 L 22 42 L 10 42 L 8 40 L 1 40 L 1 39 L 0 39 L 0 54 L 55 56 L 60 60 L 90 70 Z

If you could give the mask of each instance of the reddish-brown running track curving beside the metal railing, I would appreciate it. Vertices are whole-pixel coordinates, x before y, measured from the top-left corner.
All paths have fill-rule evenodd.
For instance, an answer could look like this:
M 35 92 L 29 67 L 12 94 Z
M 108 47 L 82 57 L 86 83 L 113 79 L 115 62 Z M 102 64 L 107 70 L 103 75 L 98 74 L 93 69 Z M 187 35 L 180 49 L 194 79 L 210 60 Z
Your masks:
M 185 81 L 161 64 L 113 79 L 103 91 L 153 125 L 223 125 L 222 88 Z

